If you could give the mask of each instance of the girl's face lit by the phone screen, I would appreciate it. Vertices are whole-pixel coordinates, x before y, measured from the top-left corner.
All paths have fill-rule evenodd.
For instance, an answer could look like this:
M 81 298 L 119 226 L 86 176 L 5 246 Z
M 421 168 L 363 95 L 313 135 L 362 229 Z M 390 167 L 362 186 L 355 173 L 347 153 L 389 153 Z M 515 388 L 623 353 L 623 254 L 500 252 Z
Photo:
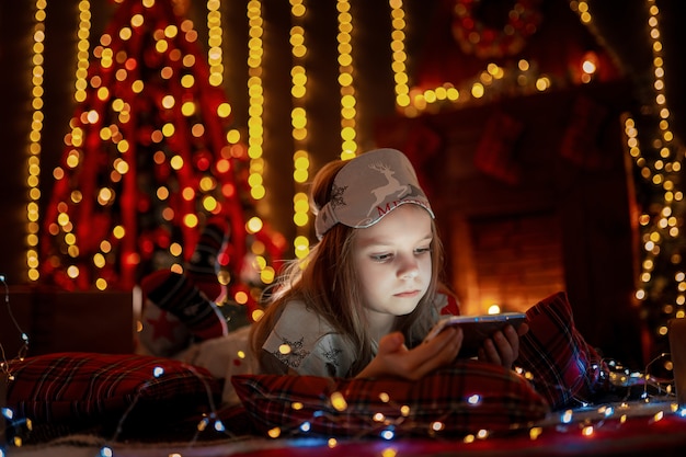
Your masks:
M 397 316 L 414 310 L 432 275 L 431 216 L 404 204 L 371 227 L 357 229 L 354 260 L 364 308 L 377 336 L 388 333 Z M 379 334 L 380 333 L 380 334 Z

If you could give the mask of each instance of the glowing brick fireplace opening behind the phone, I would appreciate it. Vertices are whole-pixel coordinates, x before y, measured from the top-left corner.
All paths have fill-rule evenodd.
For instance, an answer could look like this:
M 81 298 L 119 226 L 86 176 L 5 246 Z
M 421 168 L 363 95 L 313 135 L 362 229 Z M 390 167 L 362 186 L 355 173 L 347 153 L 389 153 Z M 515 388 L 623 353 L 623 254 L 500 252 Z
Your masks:
M 565 290 L 562 235 L 552 212 L 450 218 L 447 258 L 461 311 L 526 311 Z

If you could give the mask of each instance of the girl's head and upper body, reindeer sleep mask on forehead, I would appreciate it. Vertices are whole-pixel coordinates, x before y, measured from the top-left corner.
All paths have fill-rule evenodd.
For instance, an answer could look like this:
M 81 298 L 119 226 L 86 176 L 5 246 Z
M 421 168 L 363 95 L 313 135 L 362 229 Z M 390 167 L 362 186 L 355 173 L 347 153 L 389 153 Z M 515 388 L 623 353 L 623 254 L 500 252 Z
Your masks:
M 454 361 L 458 328 L 420 344 L 446 297 L 437 290 L 434 214 L 408 158 L 377 149 L 331 162 L 315 178 L 311 202 L 319 243 L 290 265 L 254 324 L 260 370 L 418 379 Z M 518 344 L 508 325 L 480 358 L 511 367 Z

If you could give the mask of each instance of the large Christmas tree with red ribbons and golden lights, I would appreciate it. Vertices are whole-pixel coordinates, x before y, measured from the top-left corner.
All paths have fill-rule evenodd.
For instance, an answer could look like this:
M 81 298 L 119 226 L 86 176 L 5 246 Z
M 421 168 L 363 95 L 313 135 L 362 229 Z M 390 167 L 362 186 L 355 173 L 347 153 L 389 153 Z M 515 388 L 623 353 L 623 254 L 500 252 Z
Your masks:
M 209 83 L 197 33 L 171 0 L 124 0 L 93 48 L 44 218 L 42 278 L 132 289 L 188 265 L 209 220 L 230 299 L 255 304 L 285 240 L 256 215 L 231 106 Z

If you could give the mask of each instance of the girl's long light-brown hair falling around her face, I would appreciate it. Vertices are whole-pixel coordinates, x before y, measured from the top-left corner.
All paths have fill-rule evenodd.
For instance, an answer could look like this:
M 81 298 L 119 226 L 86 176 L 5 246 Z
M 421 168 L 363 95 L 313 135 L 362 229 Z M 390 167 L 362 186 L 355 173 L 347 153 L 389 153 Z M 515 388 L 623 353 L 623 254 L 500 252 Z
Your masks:
M 315 176 L 311 186 L 313 213 L 317 214 L 331 199 L 333 179 L 345 161 L 327 163 Z M 438 275 L 443 264 L 443 247 L 432 218 L 432 279 L 428 290 L 411 313 L 396 318 L 393 330 L 402 332 L 408 346 L 422 341 L 436 316 L 434 302 Z M 283 307 L 291 300 L 299 300 L 323 318 L 336 332 L 347 338 L 359 354 L 352 367 L 351 376 L 356 375 L 374 357 L 373 344 L 365 332 L 368 327 L 362 300 L 358 273 L 353 262 L 353 245 L 357 230 L 336 224 L 301 261 L 286 264 L 274 292 L 271 304 L 262 319 L 251 330 L 254 354 L 261 354 L 262 346 L 270 335 Z M 260 359 L 261 357 L 258 357 Z

